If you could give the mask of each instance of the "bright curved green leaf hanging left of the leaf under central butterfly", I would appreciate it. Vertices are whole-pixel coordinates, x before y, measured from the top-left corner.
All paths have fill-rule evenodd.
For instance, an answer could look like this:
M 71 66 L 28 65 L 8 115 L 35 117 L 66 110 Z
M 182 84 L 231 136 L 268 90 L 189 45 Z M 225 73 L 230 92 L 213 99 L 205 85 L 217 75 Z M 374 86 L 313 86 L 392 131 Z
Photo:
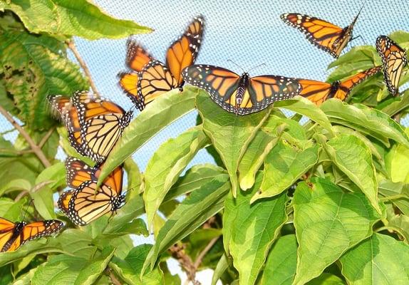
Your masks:
M 195 127 L 163 143 L 151 157 L 145 170 L 143 192 L 149 229 L 152 229 L 153 218 L 170 187 L 197 151 L 206 144 L 207 137 L 202 128 Z

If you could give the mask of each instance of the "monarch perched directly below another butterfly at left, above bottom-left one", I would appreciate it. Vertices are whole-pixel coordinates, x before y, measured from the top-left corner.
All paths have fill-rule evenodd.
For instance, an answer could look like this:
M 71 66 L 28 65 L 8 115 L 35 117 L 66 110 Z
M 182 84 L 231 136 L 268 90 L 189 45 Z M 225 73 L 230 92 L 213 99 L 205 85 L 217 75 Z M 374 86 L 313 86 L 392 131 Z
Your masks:
M 90 167 L 75 157 L 66 160 L 66 182 L 73 189 L 61 194 L 58 208 L 74 224 L 89 224 L 104 214 L 115 212 L 125 202 L 122 195 L 123 166 L 115 168 L 95 191 L 101 167 Z

